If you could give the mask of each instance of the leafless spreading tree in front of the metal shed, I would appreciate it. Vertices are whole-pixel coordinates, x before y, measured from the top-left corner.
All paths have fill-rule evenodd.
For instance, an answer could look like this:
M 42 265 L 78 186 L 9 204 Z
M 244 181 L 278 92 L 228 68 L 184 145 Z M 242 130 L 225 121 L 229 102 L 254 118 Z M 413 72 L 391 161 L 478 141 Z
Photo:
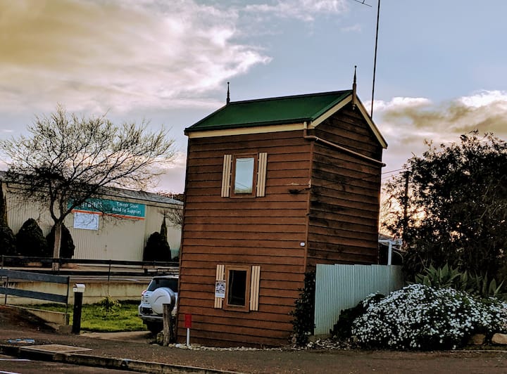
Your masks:
M 161 174 L 158 165 L 173 160 L 174 140 L 167 131 L 146 127 L 146 122 L 117 126 L 105 116 L 79 117 L 58 105 L 51 115 L 35 118 L 30 136 L 0 141 L 8 179 L 23 183 L 28 197 L 49 207 L 55 258 L 61 225 L 75 207 L 98 197 L 104 186 L 145 189 Z

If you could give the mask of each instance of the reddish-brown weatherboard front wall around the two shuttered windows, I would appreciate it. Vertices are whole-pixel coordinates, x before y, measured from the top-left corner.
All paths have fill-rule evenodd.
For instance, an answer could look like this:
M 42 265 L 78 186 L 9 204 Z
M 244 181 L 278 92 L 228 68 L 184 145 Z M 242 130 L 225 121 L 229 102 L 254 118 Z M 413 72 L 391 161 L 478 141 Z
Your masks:
M 193 339 L 224 345 L 287 342 L 289 311 L 303 285 L 300 243 L 306 240 L 308 205 L 307 193 L 289 189 L 308 186 L 309 149 L 302 131 L 189 139 L 179 311 L 180 319 L 196 314 Z M 223 197 L 224 155 L 264 153 L 265 195 Z M 222 264 L 252 265 L 259 282 L 251 288 L 258 295 L 258 305 L 250 300 L 251 311 L 217 308 L 221 303 L 213 295 Z

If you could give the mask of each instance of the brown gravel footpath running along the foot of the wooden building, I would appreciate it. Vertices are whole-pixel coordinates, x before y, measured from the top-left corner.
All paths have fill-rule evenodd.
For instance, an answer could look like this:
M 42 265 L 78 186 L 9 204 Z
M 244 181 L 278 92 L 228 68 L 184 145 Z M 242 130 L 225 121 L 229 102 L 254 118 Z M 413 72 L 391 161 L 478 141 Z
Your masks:
M 33 344 L 90 348 L 80 352 L 237 373 L 507 373 L 507 352 L 393 352 L 337 348 L 327 341 L 311 349 L 211 349 L 162 347 L 137 334 L 63 334 L 18 309 L 0 306 L 0 342 L 33 339 Z M 11 340 L 11 343 L 8 341 Z M 1 366 L 1 363 L 0 363 Z M 0 367 L 1 370 L 1 367 Z

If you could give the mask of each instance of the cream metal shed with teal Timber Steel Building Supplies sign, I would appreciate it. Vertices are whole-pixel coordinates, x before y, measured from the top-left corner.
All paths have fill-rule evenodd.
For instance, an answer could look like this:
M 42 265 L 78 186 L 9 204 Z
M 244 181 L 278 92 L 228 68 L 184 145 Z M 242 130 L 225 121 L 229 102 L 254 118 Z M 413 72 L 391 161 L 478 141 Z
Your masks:
M 53 226 L 49 211 L 40 202 L 27 201 L 19 190 L 23 186 L 5 181 L 0 172 L 0 182 L 6 198 L 8 226 L 18 233 L 23 223 L 35 219 L 47 235 Z M 146 240 L 151 233 L 160 231 L 164 211 L 183 209 L 183 202 L 156 193 L 105 188 L 94 202 L 107 202 L 115 214 L 100 214 L 92 206 L 75 209 L 65 219 L 75 244 L 76 259 L 113 259 L 142 261 Z M 173 257 L 179 253 L 181 228 L 167 221 L 168 243 Z

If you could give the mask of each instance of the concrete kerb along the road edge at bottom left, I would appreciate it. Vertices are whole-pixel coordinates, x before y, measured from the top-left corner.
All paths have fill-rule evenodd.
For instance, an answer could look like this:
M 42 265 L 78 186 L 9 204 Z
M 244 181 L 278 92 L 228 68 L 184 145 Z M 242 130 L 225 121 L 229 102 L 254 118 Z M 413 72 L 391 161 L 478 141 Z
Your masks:
M 142 373 L 165 374 L 165 373 L 199 373 L 199 374 L 242 374 L 235 371 L 198 368 L 194 366 L 173 365 L 170 363 L 158 363 L 149 361 L 137 361 L 130 359 L 116 359 L 101 356 L 89 356 L 87 354 L 70 354 L 54 352 L 36 352 L 29 347 L 14 347 L 8 344 L 0 344 L 0 352 L 7 356 L 15 356 L 23 359 L 39 361 L 52 361 L 70 363 L 96 368 L 133 370 Z

